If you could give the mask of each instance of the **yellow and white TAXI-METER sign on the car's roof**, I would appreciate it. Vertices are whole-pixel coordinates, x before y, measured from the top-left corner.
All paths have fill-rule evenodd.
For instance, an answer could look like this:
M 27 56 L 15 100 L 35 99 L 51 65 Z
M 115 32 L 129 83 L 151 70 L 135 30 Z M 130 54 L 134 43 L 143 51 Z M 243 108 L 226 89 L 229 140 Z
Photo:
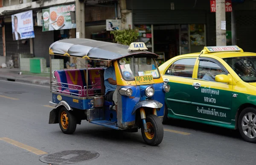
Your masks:
M 204 50 L 202 50 L 202 54 L 207 53 L 213 53 L 213 52 L 229 52 L 229 51 L 239 51 L 244 52 L 241 48 L 238 46 L 208 46 L 204 47 Z

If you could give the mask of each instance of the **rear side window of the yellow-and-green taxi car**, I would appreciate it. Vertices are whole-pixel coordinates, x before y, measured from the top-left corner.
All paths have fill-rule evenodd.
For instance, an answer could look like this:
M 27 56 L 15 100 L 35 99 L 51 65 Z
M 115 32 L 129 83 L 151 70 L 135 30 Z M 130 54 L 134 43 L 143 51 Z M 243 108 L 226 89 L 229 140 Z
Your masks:
M 195 61 L 195 58 L 179 59 L 170 65 L 165 75 L 192 78 Z

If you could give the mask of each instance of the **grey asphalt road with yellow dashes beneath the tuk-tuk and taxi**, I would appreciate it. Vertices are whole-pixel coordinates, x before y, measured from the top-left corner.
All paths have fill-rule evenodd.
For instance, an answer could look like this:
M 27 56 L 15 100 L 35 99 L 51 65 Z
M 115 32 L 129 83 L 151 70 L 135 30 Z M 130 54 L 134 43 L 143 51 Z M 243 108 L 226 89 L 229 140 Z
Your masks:
M 154 147 L 144 143 L 140 130 L 116 131 L 86 120 L 74 134 L 63 134 L 58 124 L 48 124 L 50 100 L 49 87 L 0 81 L 0 165 L 45 165 L 41 156 L 65 150 L 100 154 L 74 165 L 256 163 L 256 144 L 245 142 L 238 131 L 182 120 L 164 125 L 163 142 Z

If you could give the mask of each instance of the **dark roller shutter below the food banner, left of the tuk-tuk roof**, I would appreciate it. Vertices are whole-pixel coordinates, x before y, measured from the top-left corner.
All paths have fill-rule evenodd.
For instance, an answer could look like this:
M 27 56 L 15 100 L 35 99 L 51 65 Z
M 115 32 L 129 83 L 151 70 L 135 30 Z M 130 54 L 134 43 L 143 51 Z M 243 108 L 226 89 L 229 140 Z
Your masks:
M 42 27 L 34 26 L 34 57 L 43 57 L 46 59 L 47 67 L 50 66 L 49 46 L 54 41 L 53 31 L 42 31 Z

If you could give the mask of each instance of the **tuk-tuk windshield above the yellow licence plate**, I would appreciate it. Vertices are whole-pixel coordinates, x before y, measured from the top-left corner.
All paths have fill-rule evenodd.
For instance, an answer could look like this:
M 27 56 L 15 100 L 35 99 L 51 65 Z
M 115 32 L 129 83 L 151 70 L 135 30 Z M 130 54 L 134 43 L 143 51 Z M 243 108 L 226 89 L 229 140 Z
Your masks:
M 151 57 L 128 57 L 118 60 L 122 77 L 125 80 L 134 80 L 135 76 L 149 76 L 159 78 L 160 73 L 156 63 Z

